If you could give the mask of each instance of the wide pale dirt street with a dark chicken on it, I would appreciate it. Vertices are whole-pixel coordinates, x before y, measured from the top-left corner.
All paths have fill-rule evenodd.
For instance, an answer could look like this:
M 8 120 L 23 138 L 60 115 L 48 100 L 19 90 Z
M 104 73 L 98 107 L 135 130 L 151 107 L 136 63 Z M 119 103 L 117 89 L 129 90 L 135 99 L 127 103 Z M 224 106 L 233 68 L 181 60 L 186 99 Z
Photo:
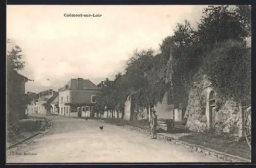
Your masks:
M 11 149 L 14 154 L 7 155 L 7 163 L 220 162 L 212 156 L 96 120 L 47 117 L 52 120 L 51 130 L 30 144 Z

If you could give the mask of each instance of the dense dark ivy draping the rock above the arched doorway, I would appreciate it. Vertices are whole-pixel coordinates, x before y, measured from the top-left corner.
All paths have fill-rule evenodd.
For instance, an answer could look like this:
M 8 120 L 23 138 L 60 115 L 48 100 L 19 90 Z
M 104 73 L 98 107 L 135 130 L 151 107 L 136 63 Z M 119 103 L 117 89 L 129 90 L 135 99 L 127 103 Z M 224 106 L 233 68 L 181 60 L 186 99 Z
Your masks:
M 228 41 L 214 50 L 208 76 L 223 98 L 238 102 L 251 97 L 251 50 L 244 42 Z

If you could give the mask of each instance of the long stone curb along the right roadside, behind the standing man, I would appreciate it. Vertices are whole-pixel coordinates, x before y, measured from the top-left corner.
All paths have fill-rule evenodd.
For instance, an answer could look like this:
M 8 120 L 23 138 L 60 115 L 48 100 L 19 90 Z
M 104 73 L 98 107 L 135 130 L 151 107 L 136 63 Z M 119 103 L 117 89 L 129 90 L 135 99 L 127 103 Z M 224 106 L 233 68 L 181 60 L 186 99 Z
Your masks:
M 126 124 L 119 124 L 119 123 L 114 123 L 114 122 L 110 122 L 110 121 L 104 121 L 102 119 L 98 119 L 98 121 L 113 124 L 113 125 L 117 125 L 117 126 L 126 127 L 130 130 L 135 130 L 135 131 L 138 131 L 140 133 L 147 133 L 147 134 L 151 133 L 148 130 L 145 130 L 145 129 L 142 129 L 142 128 L 139 128 L 139 127 L 136 127 L 136 126 L 126 125 Z M 199 146 L 199 145 L 193 145 L 193 144 L 190 144 L 190 143 L 187 143 L 187 142 L 184 142 L 184 141 L 172 138 L 172 137 L 168 137 L 168 136 L 165 136 L 165 135 L 158 134 L 158 137 L 160 137 L 160 139 L 165 139 L 169 142 L 175 143 L 176 145 L 181 145 L 181 146 L 183 146 L 187 149 L 190 149 L 190 150 L 193 150 L 193 151 L 196 151 L 196 152 L 199 152 L 199 153 L 204 153 L 205 155 L 214 156 L 214 157 L 222 159 L 226 162 L 251 162 L 251 160 L 249 160 L 249 159 L 245 159 L 245 158 L 242 158 L 242 157 L 239 157 L 239 156 L 234 156 L 234 155 L 227 154 L 227 153 L 224 153 L 224 152 L 215 151 L 215 150 L 205 148 L 205 147 L 202 147 L 202 146 Z

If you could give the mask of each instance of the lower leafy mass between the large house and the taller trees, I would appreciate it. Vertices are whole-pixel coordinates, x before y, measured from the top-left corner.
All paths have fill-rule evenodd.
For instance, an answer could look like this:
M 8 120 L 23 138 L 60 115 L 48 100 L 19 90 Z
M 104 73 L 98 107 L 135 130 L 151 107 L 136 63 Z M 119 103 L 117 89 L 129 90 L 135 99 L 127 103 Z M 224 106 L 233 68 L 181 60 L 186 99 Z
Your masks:
M 124 103 L 129 94 L 133 94 L 136 104 L 148 107 L 156 103 L 164 94 L 164 82 L 159 78 L 159 56 L 154 51 L 135 50 L 133 56 L 126 62 L 125 73 L 118 73 L 113 81 L 105 79 L 102 86 L 102 96 L 95 108 L 98 111 L 124 110 Z M 99 84 L 98 86 L 101 86 Z

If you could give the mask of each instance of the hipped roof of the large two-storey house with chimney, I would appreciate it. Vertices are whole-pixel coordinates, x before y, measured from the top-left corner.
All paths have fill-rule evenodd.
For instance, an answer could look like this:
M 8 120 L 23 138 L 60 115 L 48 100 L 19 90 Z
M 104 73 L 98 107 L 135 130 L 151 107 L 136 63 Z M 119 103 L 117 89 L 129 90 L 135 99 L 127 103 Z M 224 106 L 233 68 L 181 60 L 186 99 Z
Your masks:
M 71 79 L 59 91 L 69 90 L 69 89 L 77 90 L 78 89 L 77 83 L 78 83 L 78 79 Z M 100 89 L 98 86 L 92 83 L 89 79 L 82 79 L 82 88 L 83 90 L 99 90 Z

